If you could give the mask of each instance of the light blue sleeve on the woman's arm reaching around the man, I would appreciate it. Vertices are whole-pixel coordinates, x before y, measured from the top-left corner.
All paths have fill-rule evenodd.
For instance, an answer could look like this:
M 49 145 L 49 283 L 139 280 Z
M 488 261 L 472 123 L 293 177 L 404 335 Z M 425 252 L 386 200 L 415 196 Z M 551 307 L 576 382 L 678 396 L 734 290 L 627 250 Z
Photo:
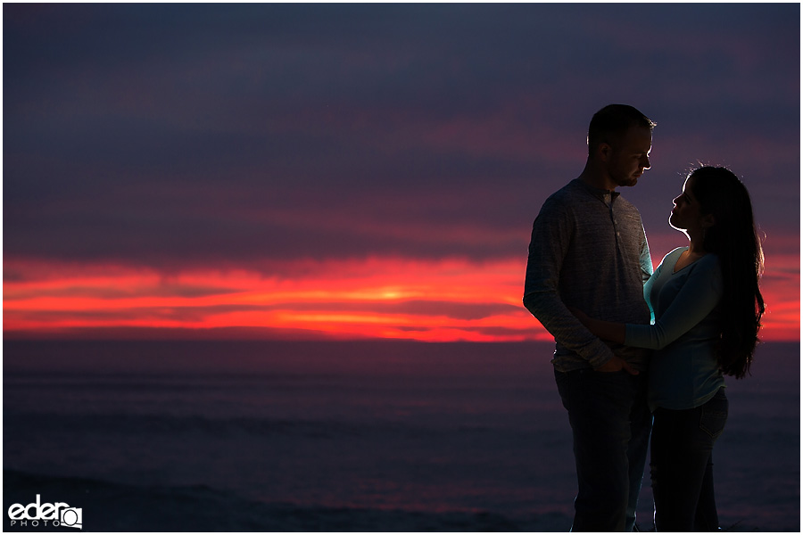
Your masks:
M 654 325 L 625 325 L 625 345 L 661 350 L 688 333 L 716 308 L 724 289 L 715 255 L 698 260 L 680 292 Z

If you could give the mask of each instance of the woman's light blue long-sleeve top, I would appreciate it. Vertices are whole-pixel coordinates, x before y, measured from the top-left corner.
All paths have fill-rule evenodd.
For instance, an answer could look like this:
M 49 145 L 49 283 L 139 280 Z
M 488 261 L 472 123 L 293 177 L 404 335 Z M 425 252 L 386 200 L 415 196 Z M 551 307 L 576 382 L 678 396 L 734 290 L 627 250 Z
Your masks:
M 709 253 L 675 271 L 687 249 L 669 252 L 644 285 L 655 323 L 625 327 L 626 345 L 656 350 L 650 359 L 652 410 L 700 407 L 724 386 L 715 356 L 722 268 L 719 258 Z

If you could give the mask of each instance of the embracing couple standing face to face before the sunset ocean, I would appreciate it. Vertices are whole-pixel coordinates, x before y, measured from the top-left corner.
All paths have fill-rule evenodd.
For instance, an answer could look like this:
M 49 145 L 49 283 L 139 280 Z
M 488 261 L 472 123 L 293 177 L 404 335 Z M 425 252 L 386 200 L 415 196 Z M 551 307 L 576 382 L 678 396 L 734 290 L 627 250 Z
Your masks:
M 533 226 L 524 304 L 556 342 L 579 484 L 572 531 L 633 531 L 648 444 L 656 530 L 719 529 L 724 375 L 749 373 L 764 312 L 749 193 L 728 169 L 686 178 L 669 224 L 688 245 L 653 272 L 639 211 L 616 190 L 650 169 L 655 126 L 623 104 L 594 114 L 583 173 Z

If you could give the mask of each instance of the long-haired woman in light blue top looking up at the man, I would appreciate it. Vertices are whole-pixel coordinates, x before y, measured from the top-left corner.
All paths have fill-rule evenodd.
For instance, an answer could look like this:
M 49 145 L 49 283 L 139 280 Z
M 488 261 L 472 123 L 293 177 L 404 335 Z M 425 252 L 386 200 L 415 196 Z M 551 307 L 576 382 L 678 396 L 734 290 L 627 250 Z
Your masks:
M 654 325 L 574 311 L 600 338 L 656 350 L 650 473 L 657 531 L 717 531 L 711 453 L 728 401 L 723 374 L 749 373 L 764 300 L 749 193 L 731 171 L 701 167 L 675 198 L 669 224 L 689 246 L 671 251 L 644 286 Z

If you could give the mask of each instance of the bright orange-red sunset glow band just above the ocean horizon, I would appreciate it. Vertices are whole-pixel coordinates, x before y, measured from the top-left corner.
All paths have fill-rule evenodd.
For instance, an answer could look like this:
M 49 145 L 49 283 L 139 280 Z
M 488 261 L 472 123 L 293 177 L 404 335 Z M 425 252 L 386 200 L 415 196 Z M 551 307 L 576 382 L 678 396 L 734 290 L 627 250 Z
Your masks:
M 798 259 L 768 263 L 763 340 L 799 341 Z M 120 265 L 4 262 L 4 333 L 174 330 L 264 338 L 551 341 L 521 304 L 526 259 L 305 260 L 269 269 L 165 275 Z M 9 274 L 11 274 L 9 276 Z M 285 276 L 277 274 L 287 274 Z M 116 331 L 115 331 L 116 330 Z M 239 330 L 239 331 L 238 331 Z M 133 331 L 132 331 L 133 332 Z

